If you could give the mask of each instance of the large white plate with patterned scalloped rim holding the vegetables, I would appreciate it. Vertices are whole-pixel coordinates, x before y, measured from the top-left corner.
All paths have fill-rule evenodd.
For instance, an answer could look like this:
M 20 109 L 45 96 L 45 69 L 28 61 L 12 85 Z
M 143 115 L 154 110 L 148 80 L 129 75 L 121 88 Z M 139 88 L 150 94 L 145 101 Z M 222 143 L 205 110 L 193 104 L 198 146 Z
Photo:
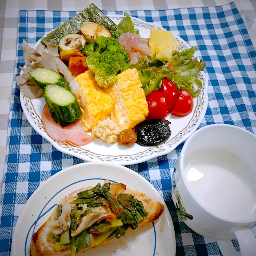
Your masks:
M 109 17 L 117 24 L 122 19 L 121 15 L 111 15 Z M 141 37 L 148 38 L 152 28 L 163 29 L 162 27 L 155 26 L 153 23 L 148 23 L 134 17 L 131 18 L 135 28 L 139 29 Z M 190 48 L 183 39 L 176 35 L 175 37 L 178 39 L 181 49 Z M 38 41 L 34 48 L 39 43 Z M 197 55 L 195 54 L 195 56 Z M 107 161 L 118 165 L 133 165 L 171 152 L 197 130 L 205 116 L 208 104 L 208 79 L 204 72 L 201 72 L 199 79 L 202 81 L 203 89 L 198 97 L 194 98 L 193 111 L 186 117 L 174 117 L 168 114 L 166 119 L 171 122 L 171 136 L 165 143 L 156 147 L 143 147 L 137 143 L 125 147 L 118 142 L 109 145 L 101 141 L 101 139 L 94 139 L 92 143 L 82 147 L 74 147 L 63 142 L 55 141 L 46 134 L 41 121 L 41 113 L 45 105 L 45 99 L 42 97 L 31 100 L 26 98 L 23 94 L 20 94 L 20 99 L 23 112 L 31 126 L 38 134 L 62 153 L 73 155 L 85 161 Z

